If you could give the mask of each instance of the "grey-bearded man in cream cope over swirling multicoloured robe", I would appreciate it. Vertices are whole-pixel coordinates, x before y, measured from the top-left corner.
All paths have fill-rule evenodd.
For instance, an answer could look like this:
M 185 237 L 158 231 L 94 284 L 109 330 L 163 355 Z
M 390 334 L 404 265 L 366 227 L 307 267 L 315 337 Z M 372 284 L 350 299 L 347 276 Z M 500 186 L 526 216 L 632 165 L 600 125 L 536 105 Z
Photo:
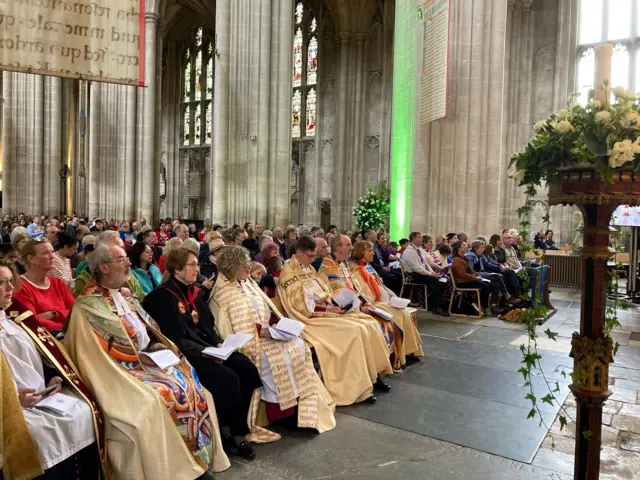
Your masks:
M 193 367 L 122 287 L 121 247 L 89 255 L 94 279 L 76 300 L 65 345 L 106 417 L 108 459 L 118 479 L 211 478 L 225 470 L 213 400 Z M 144 352 L 178 363 L 160 368 Z

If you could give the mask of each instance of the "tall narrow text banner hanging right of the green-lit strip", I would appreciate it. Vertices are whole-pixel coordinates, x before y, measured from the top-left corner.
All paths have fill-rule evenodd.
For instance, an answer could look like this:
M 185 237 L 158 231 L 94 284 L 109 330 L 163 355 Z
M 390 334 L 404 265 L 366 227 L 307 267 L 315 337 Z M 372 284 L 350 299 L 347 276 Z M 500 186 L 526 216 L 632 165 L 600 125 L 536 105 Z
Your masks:
M 427 0 L 421 12 L 420 124 L 424 125 L 447 115 L 449 0 Z

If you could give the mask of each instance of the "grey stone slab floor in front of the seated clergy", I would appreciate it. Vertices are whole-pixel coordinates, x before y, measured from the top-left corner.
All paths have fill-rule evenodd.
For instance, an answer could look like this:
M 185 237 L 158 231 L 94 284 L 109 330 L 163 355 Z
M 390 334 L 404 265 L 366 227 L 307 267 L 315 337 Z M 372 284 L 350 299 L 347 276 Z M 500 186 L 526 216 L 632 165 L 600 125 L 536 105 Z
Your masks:
M 557 342 L 541 339 L 539 347 L 544 371 L 560 383 L 560 397 L 566 397 L 564 409 L 571 419 L 575 400 L 567 396 L 568 380 L 554 370 L 570 371 L 570 338 L 579 329 L 579 292 L 554 289 L 552 303 L 558 312 L 541 330 L 550 328 L 559 336 Z M 621 347 L 610 370 L 614 393 L 603 416 L 602 480 L 640 479 L 640 309 L 624 312 L 620 321 L 614 336 Z M 545 405 L 552 440 L 545 438 L 537 421 L 522 417 L 528 411 L 526 391 L 522 377 L 514 373 L 521 358 L 519 345 L 526 341 L 521 325 L 421 314 L 419 330 L 426 354 L 423 363 L 389 379 L 393 391 L 380 394 L 375 406 L 339 408 L 338 426 L 322 435 L 278 428 L 280 441 L 257 445 L 253 462 L 232 459 L 232 468 L 216 478 L 573 478 L 575 424 L 570 420 L 569 428 L 560 430 L 557 407 Z M 535 388 L 542 382 L 536 379 Z M 455 435 L 447 439 L 455 441 L 434 438 L 436 433 L 444 438 L 443 430 L 453 431 Z M 486 453 L 492 445 L 502 454 Z

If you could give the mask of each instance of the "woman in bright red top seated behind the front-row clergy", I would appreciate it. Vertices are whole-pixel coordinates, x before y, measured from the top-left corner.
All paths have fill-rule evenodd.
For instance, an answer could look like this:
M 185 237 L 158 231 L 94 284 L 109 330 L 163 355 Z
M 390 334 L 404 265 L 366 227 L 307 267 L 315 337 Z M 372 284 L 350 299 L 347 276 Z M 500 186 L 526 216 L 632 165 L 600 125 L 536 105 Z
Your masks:
M 53 247 L 46 238 L 28 240 L 22 248 L 27 272 L 15 298 L 31 310 L 40 325 L 50 332 L 62 330 L 75 299 L 64 280 L 51 277 Z

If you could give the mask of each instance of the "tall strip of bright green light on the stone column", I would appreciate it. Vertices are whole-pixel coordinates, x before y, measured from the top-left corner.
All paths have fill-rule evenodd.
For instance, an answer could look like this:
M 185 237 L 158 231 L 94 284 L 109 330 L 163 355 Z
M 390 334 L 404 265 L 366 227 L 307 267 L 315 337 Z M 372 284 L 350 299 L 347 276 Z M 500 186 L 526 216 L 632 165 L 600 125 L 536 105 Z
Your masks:
M 396 241 L 409 234 L 411 219 L 416 79 L 416 11 L 414 5 L 415 0 L 396 0 L 389 225 L 390 236 Z

